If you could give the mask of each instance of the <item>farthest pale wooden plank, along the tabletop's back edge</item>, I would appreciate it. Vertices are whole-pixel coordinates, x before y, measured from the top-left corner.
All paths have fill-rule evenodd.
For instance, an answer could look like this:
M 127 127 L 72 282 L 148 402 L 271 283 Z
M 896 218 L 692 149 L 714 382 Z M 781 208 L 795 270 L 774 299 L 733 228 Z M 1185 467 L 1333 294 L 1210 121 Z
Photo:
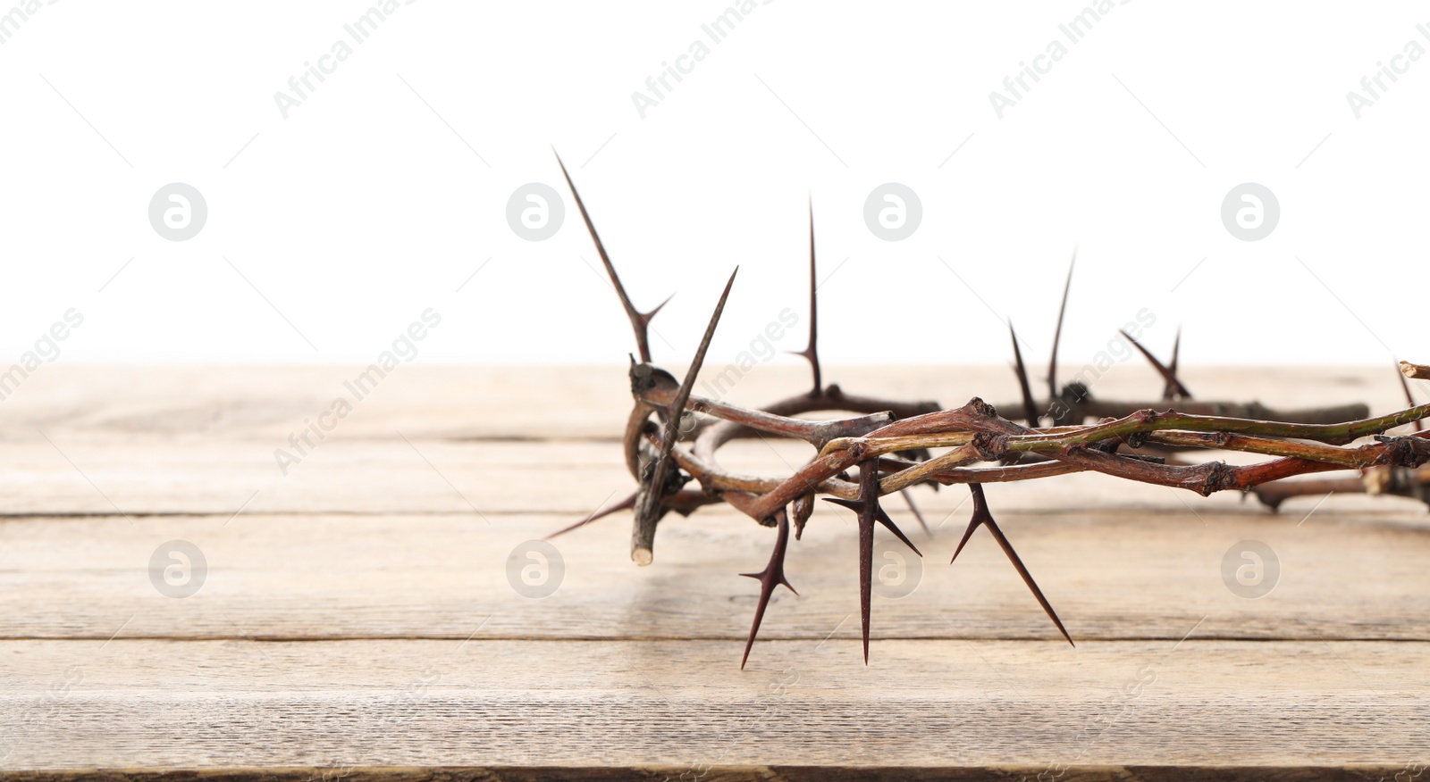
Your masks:
M 92 432 L 173 441 L 227 437 L 283 441 L 303 418 L 346 397 L 353 412 L 337 431 L 390 438 L 393 430 L 429 440 L 619 437 L 631 410 L 625 355 L 606 367 L 459 367 L 403 364 L 362 400 L 345 385 L 360 365 L 46 365 L 4 398 L 4 440 L 46 432 Z M 662 364 L 684 377 L 684 365 Z M 758 405 L 799 394 L 809 371 L 797 358 L 756 364 L 738 382 L 715 385 L 724 364 L 711 361 L 696 388 Z M 1078 371 L 1064 365 L 1064 380 Z M 1187 384 L 1204 400 L 1276 407 L 1366 402 L 1404 407 L 1391 367 L 1188 367 Z M 706 385 L 706 382 L 709 385 Z M 1017 407 L 1018 385 L 1005 365 L 827 367 L 825 382 L 851 394 L 937 400 L 957 407 L 971 397 Z M 1093 384 L 1103 398 L 1160 398 L 1163 382 L 1133 357 Z M 366 388 L 366 387 L 365 387 Z M 9 387 L 7 387 L 9 390 Z

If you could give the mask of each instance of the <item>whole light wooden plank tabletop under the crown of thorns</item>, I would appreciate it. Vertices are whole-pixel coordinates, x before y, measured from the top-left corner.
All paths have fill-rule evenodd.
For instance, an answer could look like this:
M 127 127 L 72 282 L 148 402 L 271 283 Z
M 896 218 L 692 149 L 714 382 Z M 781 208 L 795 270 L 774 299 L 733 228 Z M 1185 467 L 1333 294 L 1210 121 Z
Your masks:
M 741 671 L 756 584 L 736 574 L 764 567 L 772 531 L 729 509 L 664 522 L 649 568 L 631 564 L 621 514 L 553 541 L 563 574 L 545 572 L 559 584 L 548 596 L 509 579 L 519 544 L 631 489 L 616 442 L 623 368 L 400 365 L 349 415 L 322 418 L 335 428 L 309 435 L 316 447 L 285 475 L 275 450 L 299 457 L 290 434 L 350 398 L 343 382 L 359 371 L 60 364 L 3 402 L 0 771 L 1426 773 L 1430 535 L 1414 502 L 1307 498 L 1273 515 L 1236 495 L 1097 475 L 990 487 L 1074 649 L 985 532 L 948 564 L 968 492 L 921 488 L 935 534 L 889 504 L 927 557 L 911 594 L 875 598 L 868 666 L 852 515 L 824 508 L 792 544 L 799 596 L 778 595 Z M 827 378 L 947 405 L 1015 398 L 1002 367 Z M 1207 397 L 1400 404 L 1389 368 L 1185 381 Z M 731 400 L 805 382 L 799 367 L 761 365 Z M 1094 392 L 1150 388 L 1160 382 L 1127 365 Z M 728 454 L 771 472 L 807 455 L 762 441 Z M 1256 599 L 1223 575 L 1246 539 L 1280 567 Z M 170 595 L 200 568 L 190 558 L 186 582 L 170 541 L 206 562 L 190 596 Z M 533 562 L 518 562 L 519 584 Z M 166 565 L 179 568 L 169 581 Z M 526 577 L 541 582 L 541 568 Z

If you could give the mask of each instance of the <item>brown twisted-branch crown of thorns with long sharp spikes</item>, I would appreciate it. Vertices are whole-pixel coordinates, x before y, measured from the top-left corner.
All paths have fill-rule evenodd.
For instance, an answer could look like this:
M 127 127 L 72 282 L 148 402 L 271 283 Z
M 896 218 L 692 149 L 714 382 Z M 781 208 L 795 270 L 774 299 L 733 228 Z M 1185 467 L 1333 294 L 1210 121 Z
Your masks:
M 561 164 L 559 157 L 558 164 Z M 585 527 L 616 511 L 632 509 L 635 519 L 631 557 L 636 564 L 648 565 L 655 557 L 656 527 L 671 511 L 689 515 L 702 505 L 728 504 L 756 524 L 774 527 L 775 545 L 765 569 L 741 574 L 759 582 L 759 602 L 745 642 L 741 668 L 749 659 L 775 588 L 784 585 L 798 595 L 785 575 L 789 528 L 794 527 L 798 541 L 814 515 L 817 498 L 848 508 L 858 518 L 859 608 L 865 664 L 869 656 L 875 525 L 882 525 L 914 554 L 922 557 L 882 508 L 879 498 L 898 491 L 924 532 L 932 535 L 908 492 L 914 485 L 928 485 L 935 489 L 940 485 L 968 485 L 974 511 L 954 552 L 954 561 L 972 534 L 980 527 L 987 528 L 1068 644 L 1072 644 L 1071 634 L 1014 551 L 1008 537 L 994 521 L 982 484 L 1095 471 L 1120 479 L 1183 488 L 1203 495 L 1223 489 L 1254 489 L 1273 509 L 1288 497 L 1356 491 L 1356 487 L 1361 487 L 1361 491 L 1417 497 L 1430 502 L 1427 489 L 1430 467 L 1421 468 L 1430 462 L 1430 432 L 1420 431 L 1420 421 L 1430 417 L 1430 404 L 1416 405 L 1404 378 L 1401 384 L 1409 407 L 1374 418 L 1369 417 L 1366 405 L 1357 404 L 1317 410 L 1271 410 L 1257 402 L 1193 400 L 1191 392 L 1177 377 L 1181 345 L 1178 328 L 1171 361 L 1167 364 L 1131 335 L 1123 334 L 1161 375 L 1161 400 L 1127 402 L 1094 398 L 1090 390 L 1078 382 L 1058 388 L 1057 351 L 1072 285 L 1072 264 L 1068 265 L 1062 301 L 1058 307 L 1045 401 L 1038 401 L 1032 395 L 1017 332 L 1012 324 L 1008 324 L 1014 371 L 1022 392 L 1021 404 L 1008 407 L 1021 408 L 1025 425 L 1000 417 L 997 407 L 978 398 L 961 408 L 945 410 L 935 402 L 868 398 L 848 394 L 838 385 L 825 387 L 818 351 L 818 275 L 812 207 L 809 210 L 809 342 L 797 355 L 809 361 L 814 387 L 805 394 L 762 408 L 745 408 L 698 397 L 692 392 L 695 378 L 719 325 L 735 274 L 731 274 L 715 304 L 685 378 L 676 381 L 674 375 L 651 364 L 649 323 L 665 303 L 648 313 L 636 310 L 563 164 L 561 170 L 631 321 L 641 355 L 639 362 L 632 357 L 631 391 L 635 407 L 622 438 L 625 461 L 638 488 L 625 499 L 551 537 Z M 1075 260 L 1074 253 L 1074 263 Z M 1430 368 L 1404 362 L 1400 367 L 1406 377 L 1430 377 Z M 1167 408 L 1165 402 L 1177 402 L 1180 410 Z M 798 417 L 831 410 L 857 415 L 837 420 Z M 1042 418 L 1048 418 L 1050 425 L 1044 427 Z M 1386 435 L 1390 430 L 1411 422 L 1416 424 L 1413 434 Z M 732 440 L 746 437 L 804 441 L 817 451 L 817 455 L 784 478 L 742 475 L 721 467 L 716 451 Z M 1371 437 L 1373 441 L 1356 444 Z M 940 452 L 935 455 L 934 450 Z M 1223 461 L 1178 459 L 1180 454 L 1205 450 L 1246 451 L 1271 458 L 1236 467 Z M 858 471 L 857 481 L 849 477 L 852 469 Z M 1360 469 L 1363 475 L 1350 479 L 1284 481 L 1294 475 L 1333 469 Z M 1376 475 L 1380 478 L 1373 481 L 1371 477 Z M 695 481 L 699 488 L 685 488 L 689 481 Z

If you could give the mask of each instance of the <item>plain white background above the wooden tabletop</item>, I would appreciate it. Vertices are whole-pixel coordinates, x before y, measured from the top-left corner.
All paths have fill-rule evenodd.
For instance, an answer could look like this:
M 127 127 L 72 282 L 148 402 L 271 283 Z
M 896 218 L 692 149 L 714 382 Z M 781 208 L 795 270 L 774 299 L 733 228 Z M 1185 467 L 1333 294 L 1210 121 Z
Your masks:
M 1430 57 L 1346 100 L 1430 47 L 1423 4 L 1133 0 L 998 118 L 1084 3 L 774 0 L 642 118 L 632 93 L 726 6 L 419 0 L 287 118 L 275 93 L 369 3 L 41 6 L 0 46 L 0 364 L 70 307 L 66 362 L 366 362 L 428 307 L 422 362 L 623 362 L 569 198 L 548 241 L 506 224 L 525 183 L 566 196 L 552 147 L 636 304 L 678 294 L 658 362 L 735 264 L 712 360 L 785 307 L 804 347 L 807 198 L 831 362 L 1002 362 L 1011 317 L 1038 364 L 1074 247 L 1070 362 L 1144 307 L 1187 364 L 1430 361 Z M 147 218 L 173 181 L 209 205 L 183 243 Z M 898 243 L 862 217 L 888 181 L 924 208 Z M 1280 200 L 1261 241 L 1221 223 L 1246 181 Z

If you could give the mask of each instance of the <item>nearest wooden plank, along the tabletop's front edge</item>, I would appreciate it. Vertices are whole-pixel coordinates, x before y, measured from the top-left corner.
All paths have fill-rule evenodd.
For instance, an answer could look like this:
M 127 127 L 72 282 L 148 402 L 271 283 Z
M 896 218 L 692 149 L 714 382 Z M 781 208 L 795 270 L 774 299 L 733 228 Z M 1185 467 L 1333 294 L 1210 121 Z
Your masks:
M 879 641 L 865 668 L 857 642 L 834 639 L 771 644 L 739 671 L 726 644 L 699 641 L 7 641 L 0 765 L 1394 773 L 1430 755 L 1427 655 L 1317 641 Z M 1128 769 L 1167 765 L 1183 771 Z

